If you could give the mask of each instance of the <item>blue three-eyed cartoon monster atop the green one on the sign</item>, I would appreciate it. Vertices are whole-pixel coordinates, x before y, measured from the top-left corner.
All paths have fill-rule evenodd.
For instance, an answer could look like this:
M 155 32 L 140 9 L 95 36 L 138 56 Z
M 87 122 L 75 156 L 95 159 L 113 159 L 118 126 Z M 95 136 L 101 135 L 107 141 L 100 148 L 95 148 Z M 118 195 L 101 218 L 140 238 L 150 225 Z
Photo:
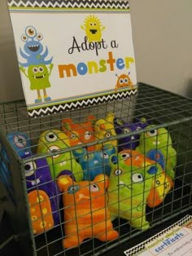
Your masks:
M 28 67 L 29 65 L 38 64 L 50 64 L 53 57 L 50 60 L 45 60 L 48 55 L 48 49 L 43 53 L 43 46 L 41 44 L 42 34 L 37 33 L 37 30 L 33 26 L 28 26 L 25 29 L 25 34 L 21 37 L 24 44 L 24 51 L 20 49 L 20 55 L 27 60 L 26 63 L 19 63 L 22 67 Z

